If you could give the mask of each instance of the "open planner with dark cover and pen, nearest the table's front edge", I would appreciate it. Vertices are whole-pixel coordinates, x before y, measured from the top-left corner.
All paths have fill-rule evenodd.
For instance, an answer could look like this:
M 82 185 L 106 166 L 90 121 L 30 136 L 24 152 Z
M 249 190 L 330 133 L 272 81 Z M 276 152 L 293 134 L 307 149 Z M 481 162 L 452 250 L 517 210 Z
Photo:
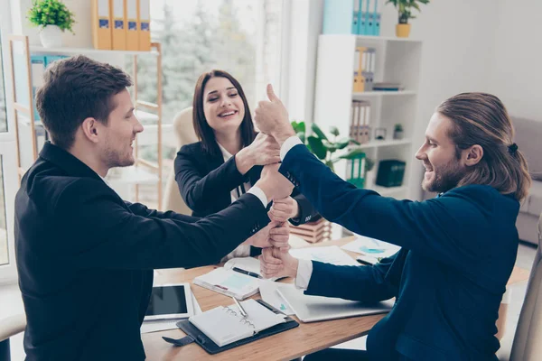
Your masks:
M 299 326 L 294 319 L 265 301 L 240 303 L 247 316 L 241 314 L 237 305 L 219 306 L 177 323 L 179 329 L 186 333 L 187 342 L 183 342 L 184 339 L 164 339 L 176 346 L 196 342 L 212 355 Z

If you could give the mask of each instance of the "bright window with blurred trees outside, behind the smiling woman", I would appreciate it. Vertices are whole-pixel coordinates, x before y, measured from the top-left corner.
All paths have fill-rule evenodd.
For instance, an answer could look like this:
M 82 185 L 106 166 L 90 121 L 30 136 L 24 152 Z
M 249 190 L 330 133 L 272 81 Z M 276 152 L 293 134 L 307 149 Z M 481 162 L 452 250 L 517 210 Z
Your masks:
M 243 87 L 252 112 L 257 102 L 266 97 L 268 82 L 280 88 L 283 3 L 283 0 L 153 1 L 152 37 L 162 44 L 163 50 L 164 182 L 173 171 L 178 151 L 173 117 L 192 106 L 195 83 L 202 72 L 228 71 Z M 131 69 L 130 63 L 127 69 Z M 138 70 L 138 98 L 155 102 L 154 60 L 141 57 Z M 147 126 L 147 131 L 153 132 L 153 127 Z M 150 136 L 146 134 L 145 138 Z M 141 145 L 139 154 L 155 162 L 156 144 Z M 157 203 L 154 186 L 140 186 L 139 194 L 140 201 L 154 208 Z

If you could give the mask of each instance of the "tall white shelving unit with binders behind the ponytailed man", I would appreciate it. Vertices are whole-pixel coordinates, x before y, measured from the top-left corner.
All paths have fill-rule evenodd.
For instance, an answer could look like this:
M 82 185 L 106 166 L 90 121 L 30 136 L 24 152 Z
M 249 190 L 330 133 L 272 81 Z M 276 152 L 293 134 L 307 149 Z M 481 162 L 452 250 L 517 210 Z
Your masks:
M 357 46 L 375 48 L 375 82 L 398 82 L 400 91 L 353 92 L 354 58 Z M 366 150 L 367 157 L 378 162 L 397 159 L 406 162 L 406 171 L 400 187 L 372 186 L 381 195 L 407 199 L 418 185 L 410 184 L 412 164 L 417 145 L 412 142 L 417 122 L 417 90 L 420 74 L 422 42 L 413 39 L 360 35 L 320 35 L 314 97 L 314 123 L 324 132 L 336 126 L 341 136 L 350 133 L 352 100 L 367 100 L 370 110 L 370 141 L 357 148 Z M 403 125 L 404 139 L 394 140 L 396 124 Z M 374 130 L 386 128 L 386 139 L 376 140 Z M 350 147 L 356 148 L 356 147 Z M 346 162 L 335 165 L 337 174 L 345 178 Z M 374 181 L 373 181 L 374 183 Z

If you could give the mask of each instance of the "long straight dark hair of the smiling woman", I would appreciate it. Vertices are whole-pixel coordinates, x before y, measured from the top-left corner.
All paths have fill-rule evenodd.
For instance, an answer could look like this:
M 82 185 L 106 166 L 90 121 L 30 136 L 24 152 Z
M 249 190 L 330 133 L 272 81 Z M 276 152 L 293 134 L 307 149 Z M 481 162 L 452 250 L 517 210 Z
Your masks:
M 245 105 L 245 117 L 241 122 L 241 140 L 243 146 L 247 146 L 256 137 L 256 132 L 254 131 L 254 124 L 252 123 L 252 116 L 250 115 L 250 109 L 248 108 L 247 97 L 245 92 L 239 84 L 238 80 L 233 78 L 228 72 L 224 70 L 214 69 L 206 73 L 201 74 L 200 78 L 196 82 L 196 88 L 194 90 L 194 100 L 193 100 L 193 109 L 192 109 L 192 123 L 194 125 L 194 131 L 196 135 L 201 140 L 203 149 L 205 152 L 208 152 L 212 155 L 220 155 L 220 148 L 217 144 L 214 132 L 210 125 L 207 123 L 205 118 L 205 113 L 203 111 L 203 90 L 205 85 L 211 78 L 226 78 L 231 81 L 231 84 L 238 90 L 239 97 L 243 99 L 243 104 Z

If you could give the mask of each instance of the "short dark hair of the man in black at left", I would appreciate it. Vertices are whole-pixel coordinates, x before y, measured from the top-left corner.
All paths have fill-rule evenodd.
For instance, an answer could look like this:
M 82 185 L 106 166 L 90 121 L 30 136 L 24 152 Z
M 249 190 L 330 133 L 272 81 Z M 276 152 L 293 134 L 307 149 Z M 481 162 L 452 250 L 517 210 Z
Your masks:
M 107 124 L 116 106 L 112 97 L 132 85 L 122 69 L 83 55 L 55 61 L 45 70 L 43 80 L 36 107 L 52 143 L 66 150 L 86 118 Z

